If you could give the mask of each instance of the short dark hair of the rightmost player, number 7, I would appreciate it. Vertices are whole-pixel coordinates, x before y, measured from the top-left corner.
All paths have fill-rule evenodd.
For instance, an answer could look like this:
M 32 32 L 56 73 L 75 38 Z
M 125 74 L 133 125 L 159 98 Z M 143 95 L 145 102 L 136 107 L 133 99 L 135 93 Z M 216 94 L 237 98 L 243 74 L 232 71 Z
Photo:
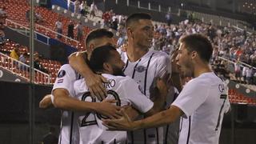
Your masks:
M 202 34 L 186 35 L 181 38 L 179 42 L 184 43 L 189 52 L 196 51 L 200 58 L 206 62 L 210 62 L 210 58 L 213 54 L 213 46 L 211 45 L 210 40 Z

